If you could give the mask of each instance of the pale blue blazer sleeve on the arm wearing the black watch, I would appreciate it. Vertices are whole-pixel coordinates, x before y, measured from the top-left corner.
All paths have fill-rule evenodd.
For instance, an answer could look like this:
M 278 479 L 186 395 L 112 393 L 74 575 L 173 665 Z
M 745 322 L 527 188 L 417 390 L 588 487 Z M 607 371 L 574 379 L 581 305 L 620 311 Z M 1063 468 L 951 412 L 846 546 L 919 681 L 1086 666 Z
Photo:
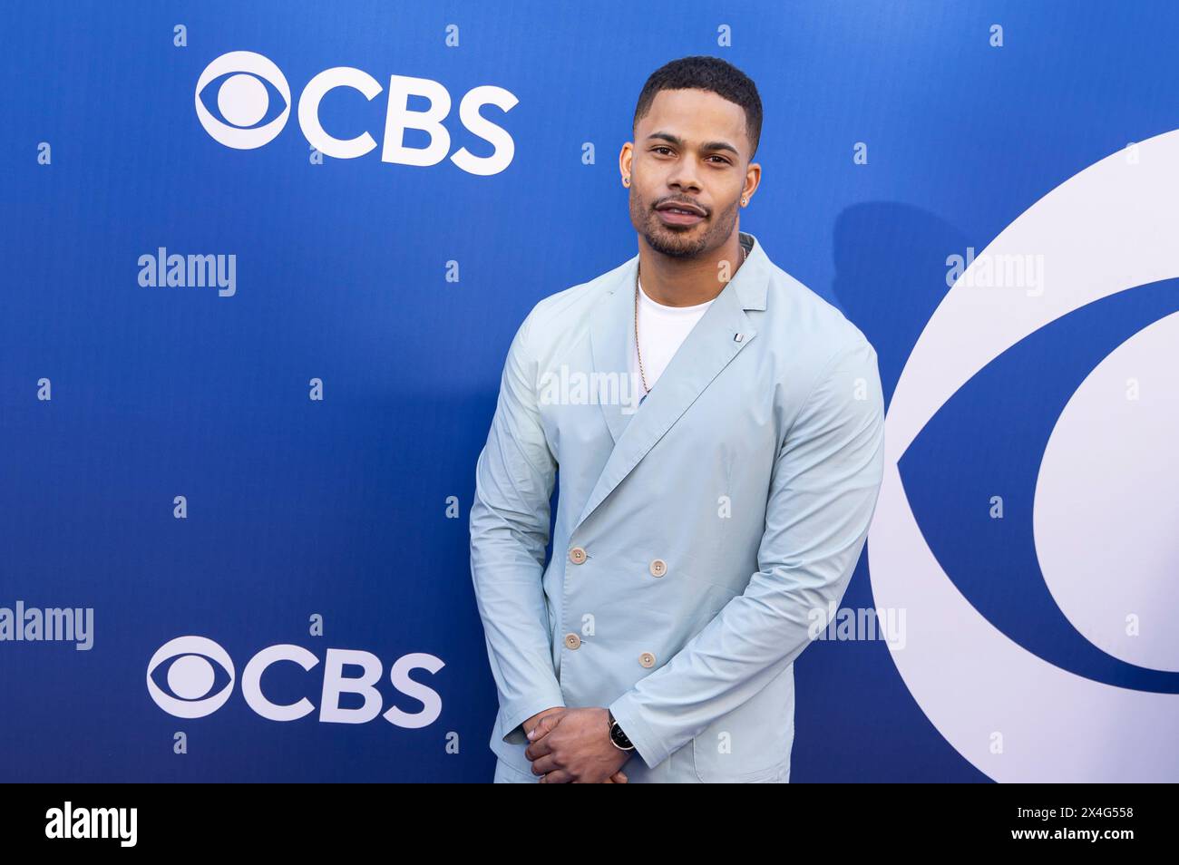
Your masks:
M 861 336 L 828 362 L 778 448 L 758 570 L 744 594 L 610 706 L 647 766 L 792 663 L 822 629 L 811 610 L 826 627 L 868 537 L 883 460 L 876 351 Z

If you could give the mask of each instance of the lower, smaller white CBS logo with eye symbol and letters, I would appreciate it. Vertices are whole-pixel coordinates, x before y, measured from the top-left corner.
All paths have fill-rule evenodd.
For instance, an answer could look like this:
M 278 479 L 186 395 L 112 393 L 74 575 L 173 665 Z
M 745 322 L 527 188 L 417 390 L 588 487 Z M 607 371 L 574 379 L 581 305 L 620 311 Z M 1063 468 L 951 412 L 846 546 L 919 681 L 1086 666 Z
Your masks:
M 242 695 L 251 709 L 268 720 L 295 721 L 315 711 L 310 700 L 304 696 L 291 704 L 278 704 L 262 692 L 263 674 L 279 661 L 297 663 L 308 672 L 320 663 L 320 659 L 302 646 L 269 646 L 253 655 L 242 671 Z M 345 665 L 360 667 L 361 675 L 345 678 Z M 420 701 L 422 711 L 408 713 L 394 706 L 382 717 L 397 727 L 417 728 L 433 724 L 442 713 L 442 698 L 433 688 L 410 679 L 409 673 L 414 669 L 436 673 L 443 666 L 440 659 L 421 652 L 399 658 L 389 668 L 389 681 L 400 693 Z M 158 676 L 153 675 L 157 669 L 162 671 L 159 675 L 171 693 L 160 687 Z M 381 659 L 369 652 L 329 648 L 320 689 L 320 721 L 364 724 L 376 718 L 382 700 L 375 685 L 382 671 Z M 147 692 L 170 715 L 204 718 L 229 700 L 235 676 L 233 661 L 218 643 L 204 636 L 178 636 L 160 646 L 149 661 Z M 218 679 L 222 680 L 219 686 Z M 358 696 L 362 705 L 356 708 L 341 706 L 342 694 Z

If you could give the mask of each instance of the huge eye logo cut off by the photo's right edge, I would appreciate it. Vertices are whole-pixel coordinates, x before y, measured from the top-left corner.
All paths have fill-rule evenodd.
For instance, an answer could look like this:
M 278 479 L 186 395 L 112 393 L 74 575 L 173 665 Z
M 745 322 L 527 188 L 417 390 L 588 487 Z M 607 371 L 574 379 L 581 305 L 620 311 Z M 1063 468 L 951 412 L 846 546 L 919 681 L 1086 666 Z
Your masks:
M 874 600 L 908 610 L 901 678 L 996 781 L 1179 780 L 1179 130 L 1135 148 L 995 237 L 990 260 L 1047 253 L 1047 290 L 968 269 L 888 408 Z

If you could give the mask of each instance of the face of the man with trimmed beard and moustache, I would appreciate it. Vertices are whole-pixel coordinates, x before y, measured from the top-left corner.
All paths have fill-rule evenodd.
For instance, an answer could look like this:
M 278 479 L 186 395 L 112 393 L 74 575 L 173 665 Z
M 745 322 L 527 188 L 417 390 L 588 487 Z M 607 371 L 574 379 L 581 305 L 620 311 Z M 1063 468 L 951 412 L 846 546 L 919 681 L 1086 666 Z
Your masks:
M 657 93 L 634 130 L 634 230 L 652 249 L 676 258 L 720 246 L 737 224 L 749 151 L 739 105 L 700 90 Z M 676 203 L 703 216 L 666 210 Z

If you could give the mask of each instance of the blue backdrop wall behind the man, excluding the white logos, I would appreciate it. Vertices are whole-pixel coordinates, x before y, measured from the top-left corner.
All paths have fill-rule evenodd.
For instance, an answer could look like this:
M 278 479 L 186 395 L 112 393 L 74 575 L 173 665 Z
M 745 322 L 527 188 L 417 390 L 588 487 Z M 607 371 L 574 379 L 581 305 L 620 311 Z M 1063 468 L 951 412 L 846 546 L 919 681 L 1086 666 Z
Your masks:
M 950 291 L 948 257 L 983 250 L 1128 143 L 1179 128 L 1179 9 L 1161 2 L 51 2 L 8 7 L 2 22 L 5 780 L 490 779 L 495 689 L 468 562 L 475 460 L 523 316 L 637 251 L 617 157 L 667 60 L 716 54 L 757 82 L 763 180 L 742 227 L 868 335 L 887 398 Z M 218 115 L 225 79 L 197 85 L 230 52 L 269 59 L 289 87 L 284 106 L 283 84 L 261 75 L 257 125 L 289 117 L 257 147 L 226 146 L 196 110 Z M 334 67 L 382 88 L 338 87 L 320 105 L 332 136 L 371 136 L 355 158 L 322 156 L 299 124 L 308 82 Z M 436 164 L 382 158 L 394 75 L 450 97 Z M 257 87 L 237 84 L 236 107 L 256 105 Z M 481 86 L 518 100 L 480 110 L 499 146 L 460 117 Z M 503 160 L 505 139 L 495 173 L 450 158 Z M 408 130 L 403 144 L 430 140 Z M 165 270 L 166 256 L 219 256 L 223 283 L 145 284 L 162 247 Z M 1063 397 L 1045 395 L 1175 308 L 1170 283 L 1092 308 L 1005 355 L 999 383 L 977 379 L 981 398 L 1059 414 Z M 1040 384 L 1048 361 L 1061 369 Z M 1036 656 L 1170 706 L 1174 655 L 1106 669 L 1117 647 L 1040 629 L 1050 603 L 1021 600 L 1042 587 L 1035 550 L 999 553 L 993 523 L 963 515 L 971 483 L 984 500 L 1045 449 L 966 398 L 901 461 L 938 562 Z M 1020 495 L 1030 507 L 1032 490 Z M 1012 556 L 1009 583 L 970 570 L 996 555 Z M 869 557 L 844 607 L 877 606 Z M 91 609 L 90 645 L 17 639 L 35 636 L 18 603 Z M 170 678 L 153 656 L 186 635 L 222 647 L 233 678 L 184 652 Z M 286 722 L 243 689 L 250 659 L 281 645 L 317 661 L 265 673 L 270 700 L 315 707 Z M 407 655 L 424 699 L 390 682 Z M 371 694 L 323 693 L 329 659 L 345 676 L 375 662 L 375 708 L 424 726 L 386 720 Z M 792 780 L 1002 779 L 924 711 L 885 642 L 816 643 L 796 675 Z M 149 679 L 190 702 L 205 685 L 224 704 L 180 717 Z M 1170 741 L 1157 762 L 1175 780 Z

